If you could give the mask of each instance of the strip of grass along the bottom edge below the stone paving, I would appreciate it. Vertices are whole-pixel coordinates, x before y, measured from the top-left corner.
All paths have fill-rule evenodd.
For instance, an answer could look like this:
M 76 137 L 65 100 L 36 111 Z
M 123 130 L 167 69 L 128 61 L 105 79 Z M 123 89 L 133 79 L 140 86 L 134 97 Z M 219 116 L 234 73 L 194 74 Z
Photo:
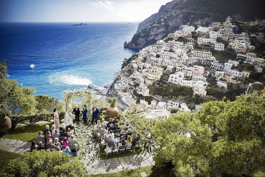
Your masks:
M 173 166 L 168 166 L 163 170 L 156 169 L 155 166 L 150 165 L 146 167 L 136 168 L 132 170 L 124 170 L 116 173 L 111 173 L 111 177 L 141 177 L 142 172 L 147 174 L 147 177 L 168 177 L 170 176 Z M 103 175 L 104 176 L 104 175 Z M 108 176 L 108 175 L 106 175 Z M 102 174 L 91 175 L 91 177 L 102 177 Z

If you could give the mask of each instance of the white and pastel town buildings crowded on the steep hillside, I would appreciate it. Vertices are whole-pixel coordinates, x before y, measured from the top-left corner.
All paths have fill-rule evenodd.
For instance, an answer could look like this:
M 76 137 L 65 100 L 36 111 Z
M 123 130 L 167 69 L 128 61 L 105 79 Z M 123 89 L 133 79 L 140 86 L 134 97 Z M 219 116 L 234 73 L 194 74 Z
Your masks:
M 216 86 L 227 89 L 228 83 L 238 84 L 249 78 L 251 73 L 261 73 L 265 67 L 265 59 L 254 53 L 250 37 L 264 42 L 263 33 L 238 34 L 238 26 L 232 25 L 231 18 L 225 22 L 212 22 L 208 27 L 181 25 L 175 33 L 168 34 L 164 40 L 158 40 L 155 45 L 143 48 L 136 59 L 131 60 L 116 77 L 112 93 L 130 109 L 136 105 L 135 92 L 143 97 L 150 96 L 150 87 L 166 82 L 167 85 L 191 87 L 193 95 L 206 96 L 208 78 L 215 78 Z M 244 22 L 244 26 L 264 27 L 265 20 Z M 205 50 L 208 48 L 208 50 Z M 236 53 L 236 58 L 217 59 L 211 50 L 229 50 Z M 127 62 L 125 59 L 124 62 Z M 244 64 L 242 69 L 238 67 Z M 163 75 L 168 75 L 165 79 Z M 152 95 L 154 96 L 154 95 Z M 265 95 L 264 95 L 265 96 Z M 180 111 L 191 111 L 185 103 L 174 100 L 157 101 L 155 98 L 148 104 L 140 99 L 137 110 L 150 118 L 170 115 L 173 108 Z M 200 105 L 195 105 L 198 110 Z

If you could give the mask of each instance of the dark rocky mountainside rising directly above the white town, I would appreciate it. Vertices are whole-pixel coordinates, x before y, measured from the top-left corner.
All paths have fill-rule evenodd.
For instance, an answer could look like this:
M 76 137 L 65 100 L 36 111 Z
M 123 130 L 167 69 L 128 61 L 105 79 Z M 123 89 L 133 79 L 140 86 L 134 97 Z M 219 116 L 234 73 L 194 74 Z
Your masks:
M 157 20 L 137 31 L 125 47 L 143 48 L 165 38 L 168 33 L 178 30 L 180 25 L 206 25 L 210 22 L 223 22 L 227 16 L 239 20 L 264 19 L 264 0 L 179 0 L 170 10 L 160 15 Z M 173 1 L 172 1 L 173 2 Z M 167 7 L 168 8 L 168 7 Z M 163 12 L 161 10 L 161 12 Z M 151 19 L 151 18 L 150 18 Z M 153 18 L 155 19 L 155 18 Z M 146 24 L 145 20 L 143 24 Z M 152 20 L 150 20 L 152 21 Z M 144 26 L 144 25 L 143 25 Z M 140 24 L 139 24 L 140 27 Z

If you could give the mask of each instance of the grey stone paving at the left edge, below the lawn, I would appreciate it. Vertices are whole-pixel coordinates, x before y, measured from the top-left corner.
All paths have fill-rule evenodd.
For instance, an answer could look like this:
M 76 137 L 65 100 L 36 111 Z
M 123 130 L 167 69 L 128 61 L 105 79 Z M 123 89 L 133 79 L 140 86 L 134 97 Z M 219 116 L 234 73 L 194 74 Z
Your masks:
M 30 142 L 24 142 L 16 139 L 0 138 L 0 149 L 9 152 L 24 153 L 30 150 L 30 145 Z

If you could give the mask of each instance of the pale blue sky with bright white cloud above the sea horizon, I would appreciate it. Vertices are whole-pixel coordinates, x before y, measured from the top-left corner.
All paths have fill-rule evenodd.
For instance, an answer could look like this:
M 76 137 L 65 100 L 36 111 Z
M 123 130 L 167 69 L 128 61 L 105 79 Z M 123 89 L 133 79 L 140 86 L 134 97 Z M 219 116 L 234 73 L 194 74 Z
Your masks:
M 0 0 L 1 22 L 142 21 L 170 0 Z

